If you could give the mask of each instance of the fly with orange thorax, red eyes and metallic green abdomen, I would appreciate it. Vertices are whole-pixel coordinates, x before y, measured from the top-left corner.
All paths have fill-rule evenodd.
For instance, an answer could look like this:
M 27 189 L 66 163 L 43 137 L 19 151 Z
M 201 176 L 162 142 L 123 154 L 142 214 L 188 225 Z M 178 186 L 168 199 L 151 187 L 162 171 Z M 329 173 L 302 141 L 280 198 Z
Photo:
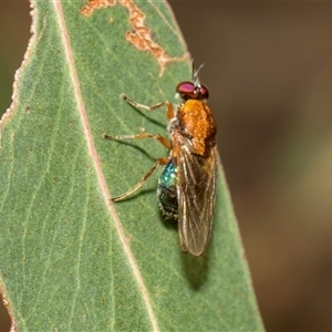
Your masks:
M 170 102 L 146 106 L 122 94 L 129 105 L 154 111 L 166 105 L 169 141 L 159 134 L 108 136 L 108 139 L 154 138 L 169 149 L 169 156 L 156 160 L 155 165 L 133 188 L 113 198 L 122 200 L 141 186 L 153 172 L 165 165 L 158 179 L 157 196 L 163 215 L 178 220 L 178 235 L 183 251 L 200 256 L 210 239 L 214 219 L 217 175 L 217 126 L 206 101 L 208 89 L 198 81 L 198 72 L 193 65 L 191 81 L 176 86 L 181 102 L 174 106 Z

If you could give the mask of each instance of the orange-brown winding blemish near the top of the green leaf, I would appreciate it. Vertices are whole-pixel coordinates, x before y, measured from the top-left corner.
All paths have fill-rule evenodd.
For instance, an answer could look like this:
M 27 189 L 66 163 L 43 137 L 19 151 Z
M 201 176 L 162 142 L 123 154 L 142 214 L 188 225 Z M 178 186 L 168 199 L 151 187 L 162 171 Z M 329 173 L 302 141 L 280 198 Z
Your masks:
M 132 31 L 126 31 L 125 39 L 139 51 L 151 52 L 155 56 L 159 65 L 159 77 L 163 76 L 167 63 L 180 62 L 188 58 L 187 54 L 180 58 L 172 58 L 154 41 L 152 30 L 145 25 L 145 14 L 133 0 L 117 0 L 117 3 L 123 6 L 129 14 Z M 116 0 L 87 0 L 81 13 L 90 17 L 95 9 L 114 7 L 115 4 Z

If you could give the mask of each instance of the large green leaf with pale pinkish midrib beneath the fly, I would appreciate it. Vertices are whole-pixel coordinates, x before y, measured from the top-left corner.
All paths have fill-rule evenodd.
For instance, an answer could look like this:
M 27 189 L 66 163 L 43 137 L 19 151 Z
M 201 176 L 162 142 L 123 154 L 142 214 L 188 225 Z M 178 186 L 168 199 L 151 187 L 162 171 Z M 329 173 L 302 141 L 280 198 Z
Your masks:
M 180 251 L 160 216 L 160 169 L 133 197 L 108 200 L 167 156 L 153 139 L 102 139 L 142 127 L 166 135 L 164 110 L 136 111 L 120 94 L 174 101 L 191 75 L 167 4 L 118 2 L 90 15 L 84 1 L 33 3 L 34 34 L 1 124 L 0 281 L 15 325 L 261 331 L 221 167 L 212 239 L 199 258 Z M 143 33 L 145 51 L 127 31 Z

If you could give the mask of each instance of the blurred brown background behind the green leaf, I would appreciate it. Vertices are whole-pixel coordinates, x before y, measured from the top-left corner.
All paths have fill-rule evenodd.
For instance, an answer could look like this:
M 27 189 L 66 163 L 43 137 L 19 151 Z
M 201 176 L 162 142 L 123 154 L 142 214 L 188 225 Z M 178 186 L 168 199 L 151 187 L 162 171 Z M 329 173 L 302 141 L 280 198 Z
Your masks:
M 266 329 L 332 331 L 332 2 L 170 6 L 195 63 L 206 63 L 200 81 Z M 1 2 L 0 113 L 29 11 L 25 0 Z

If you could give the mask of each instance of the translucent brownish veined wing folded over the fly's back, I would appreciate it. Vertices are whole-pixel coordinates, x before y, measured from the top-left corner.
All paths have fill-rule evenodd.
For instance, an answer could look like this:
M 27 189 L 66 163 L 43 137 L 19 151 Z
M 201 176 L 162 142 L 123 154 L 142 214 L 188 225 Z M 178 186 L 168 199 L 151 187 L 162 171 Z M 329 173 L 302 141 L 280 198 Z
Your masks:
M 178 151 L 178 222 L 184 250 L 204 252 L 211 235 L 216 197 L 216 147 L 207 157 Z

